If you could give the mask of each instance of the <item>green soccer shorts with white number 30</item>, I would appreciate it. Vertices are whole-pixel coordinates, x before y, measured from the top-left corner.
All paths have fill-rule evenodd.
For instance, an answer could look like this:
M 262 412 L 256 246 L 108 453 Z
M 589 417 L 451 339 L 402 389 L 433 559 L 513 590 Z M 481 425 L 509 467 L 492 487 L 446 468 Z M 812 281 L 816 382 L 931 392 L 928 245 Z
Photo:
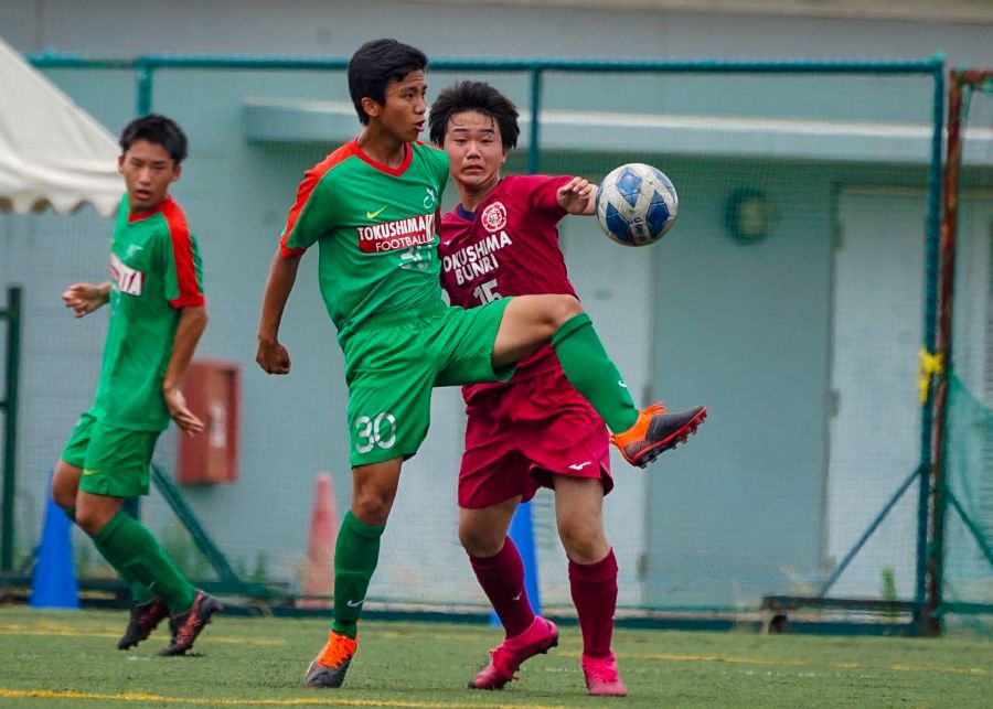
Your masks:
M 493 343 L 510 301 L 469 310 L 439 301 L 384 313 L 342 343 L 353 468 L 414 455 L 427 436 L 434 387 L 513 376 L 515 366 L 493 369 Z

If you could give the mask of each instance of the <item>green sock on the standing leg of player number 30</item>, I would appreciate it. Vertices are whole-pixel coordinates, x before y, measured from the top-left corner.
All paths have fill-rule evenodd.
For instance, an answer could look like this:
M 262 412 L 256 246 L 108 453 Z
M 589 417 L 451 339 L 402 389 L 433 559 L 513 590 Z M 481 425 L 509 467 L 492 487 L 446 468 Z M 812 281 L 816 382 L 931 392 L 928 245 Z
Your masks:
M 371 527 L 349 511 L 334 545 L 334 620 L 331 630 L 349 637 L 359 633 L 359 615 L 376 563 L 386 525 Z

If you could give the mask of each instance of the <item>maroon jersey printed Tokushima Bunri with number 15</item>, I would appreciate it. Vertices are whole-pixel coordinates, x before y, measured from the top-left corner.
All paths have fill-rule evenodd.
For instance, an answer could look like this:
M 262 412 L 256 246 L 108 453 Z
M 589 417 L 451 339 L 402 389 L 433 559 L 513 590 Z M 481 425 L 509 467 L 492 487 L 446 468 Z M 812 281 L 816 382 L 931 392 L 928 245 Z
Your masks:
M 576 296 L 558 245 L 566 215 L 556 193 L 570 176 L 503 178 L 473 214 L 456 207 L 441 217 L 441 284 L 453 305 L 476 308 L 498 298 L 541 293 Z M 524 357 L 511 382 L 559 367 L 551 345 Z M 474 391 L 506 386 L 477 384 Z

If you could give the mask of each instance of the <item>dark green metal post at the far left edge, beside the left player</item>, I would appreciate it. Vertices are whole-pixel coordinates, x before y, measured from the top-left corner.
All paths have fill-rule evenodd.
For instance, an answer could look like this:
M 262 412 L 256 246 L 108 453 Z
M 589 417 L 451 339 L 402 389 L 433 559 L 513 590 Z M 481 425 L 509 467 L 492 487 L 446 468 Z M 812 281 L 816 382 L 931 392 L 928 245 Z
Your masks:
M 7 291 L 7 366 L 3 397 L 3 491 L 0 517 L 3 519 L 0 541 L 0 570 L 13 570 L 14 495 L 17 494 L 18 464 L 18 383 L 21 369 L 21 289 Z

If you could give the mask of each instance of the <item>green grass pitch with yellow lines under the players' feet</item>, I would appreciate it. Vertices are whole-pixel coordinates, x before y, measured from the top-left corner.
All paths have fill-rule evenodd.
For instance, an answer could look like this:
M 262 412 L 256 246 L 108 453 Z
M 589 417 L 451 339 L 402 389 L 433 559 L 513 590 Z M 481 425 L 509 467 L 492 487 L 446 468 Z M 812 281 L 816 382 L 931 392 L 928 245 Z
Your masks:
M 160 627 L 115 648 L 124 612 L 0 608 L 0 706 L 23 707 L 990 707 L 993 644 L 619 630 L 624 699 L 586 696 L 575 626 L 503 691 L 466 688 L 500 640 L 487 626 L 362 623 L 341 689 L 308 690 L 317 620 L 215 616 L 190 657 L 158 657 Z

